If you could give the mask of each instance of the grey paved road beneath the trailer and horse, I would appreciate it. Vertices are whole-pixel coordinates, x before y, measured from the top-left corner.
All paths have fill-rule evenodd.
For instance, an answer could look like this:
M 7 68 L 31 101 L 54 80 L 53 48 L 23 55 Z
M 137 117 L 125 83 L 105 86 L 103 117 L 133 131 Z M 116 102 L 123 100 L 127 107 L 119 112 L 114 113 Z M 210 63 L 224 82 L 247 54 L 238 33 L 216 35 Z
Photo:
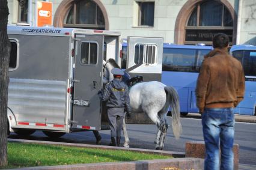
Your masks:
M 170 118 L 169 118 L 170 119 Z M 201 120 L 194 118 L 182 118 L 183 134 L 181 138 L 175 140 L 171 128 L 168 129 L 168 135 L 165 142 L 165 150 L 184 152 L 187 141 L 203 141 Z M 154 149 L 154 139 L 156 136 L 156 126 L 128 124 L 127 130 L 130 136 L 130 147 Z M 102 134 L 102 145 L 108 145 L 110 131 L 104 130 Z M 29 137 L 20 137 L 11 133 L 10 138 L 33 139 L 42 141 L 54 141 L 47 138 L 42 132 L 35 132 Z M 83 144 L 94 144 L 95 139 L 92 132 L 78 132 L 64 135 L 55 140 L 58 142 L 75 142 Z M 121 143 L 123 144 L 123 139 Z M 239 163 L 256 165 L 256 124 L 236 123 L 235 143 L 240 145 Z

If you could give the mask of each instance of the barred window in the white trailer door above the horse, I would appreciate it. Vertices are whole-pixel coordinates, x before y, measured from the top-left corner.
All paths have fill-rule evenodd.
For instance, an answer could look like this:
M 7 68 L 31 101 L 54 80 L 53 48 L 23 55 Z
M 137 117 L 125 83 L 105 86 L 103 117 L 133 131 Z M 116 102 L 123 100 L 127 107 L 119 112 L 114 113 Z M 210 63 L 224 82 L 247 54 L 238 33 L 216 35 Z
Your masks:
M 135 64 L 151 65 L 156 62 L 155 44 L 136 44 L 134 53 Z

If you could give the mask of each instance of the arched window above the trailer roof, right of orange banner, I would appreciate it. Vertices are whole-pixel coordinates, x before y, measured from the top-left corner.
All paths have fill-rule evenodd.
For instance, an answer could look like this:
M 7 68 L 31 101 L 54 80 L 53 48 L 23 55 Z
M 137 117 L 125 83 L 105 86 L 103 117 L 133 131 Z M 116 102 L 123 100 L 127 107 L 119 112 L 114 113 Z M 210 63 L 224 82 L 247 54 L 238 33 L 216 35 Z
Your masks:
M 64 27 L 105 29 L 105 20 L 95 2 L 91 0 L 74 1 L 67 13 Z

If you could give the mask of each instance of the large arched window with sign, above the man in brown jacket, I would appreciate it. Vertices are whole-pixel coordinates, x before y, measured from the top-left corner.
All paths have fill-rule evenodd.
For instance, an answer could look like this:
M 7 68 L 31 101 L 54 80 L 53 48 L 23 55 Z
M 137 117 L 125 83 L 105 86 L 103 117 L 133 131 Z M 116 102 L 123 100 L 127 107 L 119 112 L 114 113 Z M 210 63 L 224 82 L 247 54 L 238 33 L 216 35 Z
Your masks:
M 218 33 L 227 34 L 233 40 L 233 19 L 228 8 L 218 1 L 203 1 L 195 5 L 187 19 L 184 44 L 212 44 Z

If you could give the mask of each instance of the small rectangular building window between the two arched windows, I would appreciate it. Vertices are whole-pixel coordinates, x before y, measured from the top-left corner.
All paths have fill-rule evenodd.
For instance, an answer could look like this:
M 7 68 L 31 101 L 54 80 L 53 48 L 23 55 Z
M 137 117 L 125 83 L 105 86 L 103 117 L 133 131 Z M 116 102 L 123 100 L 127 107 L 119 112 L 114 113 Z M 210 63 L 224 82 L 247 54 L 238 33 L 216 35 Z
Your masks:
M 138 26 L 154 26 L 154 2 L 138 2 Z

